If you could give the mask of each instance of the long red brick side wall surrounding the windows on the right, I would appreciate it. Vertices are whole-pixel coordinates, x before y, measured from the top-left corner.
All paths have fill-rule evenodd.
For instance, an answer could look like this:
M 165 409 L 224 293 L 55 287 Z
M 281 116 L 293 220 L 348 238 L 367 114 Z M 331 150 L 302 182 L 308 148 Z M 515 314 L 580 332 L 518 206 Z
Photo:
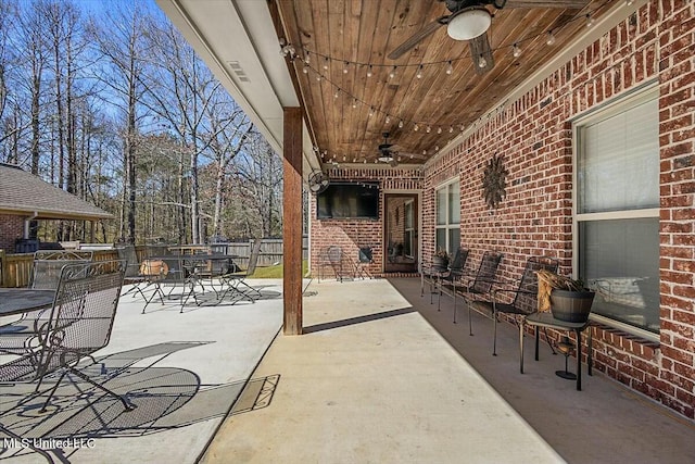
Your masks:
M 462 244 L 469 263 L 504 254 L 517 278 L 526 259 L 548 254 L 571 272 L 572 134 L 569 121 L 649 80 L 659 85 L 660 343 L 594 327 L 599 371 L 694 417 L 695 372 L 695 2 L 653 0 L 517 101 L 479 121 L 470 136 L 428 165 L 422 195 L 425 259 L 434 243 L 434 188 L 462 179 Z M 502 155 L 506 198 L 490 210 L 485 163 Z

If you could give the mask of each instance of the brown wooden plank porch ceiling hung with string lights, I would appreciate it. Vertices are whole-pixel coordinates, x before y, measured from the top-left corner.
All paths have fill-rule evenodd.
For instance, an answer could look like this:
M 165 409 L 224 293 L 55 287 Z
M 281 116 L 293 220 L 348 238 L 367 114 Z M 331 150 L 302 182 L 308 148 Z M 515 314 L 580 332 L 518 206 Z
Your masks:
M 493 14 L 488 37 L 494 67 L 482 75 L 473 67 L 468 42 L 451 39 L 445 26 L 397 60 L 388 58 L 408 37 L 450 14 L 441 0 L 276 1 L 285 29 L 280 35 L 294 48 L 290 67 L 324 162 L 378 162 L 378 147 L 389 133 L 396 156 L 409 164 L 424 163 L 462 126 L 498 105 L 586 28 L 586 14 L 597 18 L 619 0 L 580 1 L 580 9 L 486 5 Z M 552 46 L 548 30 L 556 38 Z M 453 72 L 447 74 L 450 62 Z

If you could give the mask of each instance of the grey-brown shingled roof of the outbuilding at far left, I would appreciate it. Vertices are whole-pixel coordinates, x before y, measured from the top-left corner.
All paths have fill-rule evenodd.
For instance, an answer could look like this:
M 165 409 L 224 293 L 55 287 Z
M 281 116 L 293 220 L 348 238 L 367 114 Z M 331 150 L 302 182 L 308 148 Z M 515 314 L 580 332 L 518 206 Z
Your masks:
M 0 213 L 37 220 L 108 220 L 113 215 L 21 167 L 0 163 Z

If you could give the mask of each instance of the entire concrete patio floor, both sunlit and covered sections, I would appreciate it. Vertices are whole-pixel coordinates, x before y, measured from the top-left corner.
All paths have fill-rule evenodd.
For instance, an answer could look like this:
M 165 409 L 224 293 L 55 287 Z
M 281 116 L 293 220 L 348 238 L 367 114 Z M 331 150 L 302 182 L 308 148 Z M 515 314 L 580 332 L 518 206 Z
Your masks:
M 531 338 L 519 374 L 513 326 L 493 358 L 492 322 L 473 315 L 468 336 L 451 298 L 438 312 L 418 279 L 307 281 L 301 337 L 278 335 L 281 281 L 252 284 L 268 298 L 184 314 L 122 298 L 98 360 L 121 369 L 108 386 L 134 412 L 73 381 L 48 417 L 2 423 L 93 439 L 48 447 L 71 463 L 695 462 L 693 422 L 595 371 L 576 391 L 554 374 L 561 356 L 544 346 L 532 360 Z M 8 444 L 0 460 L 45 462 Z

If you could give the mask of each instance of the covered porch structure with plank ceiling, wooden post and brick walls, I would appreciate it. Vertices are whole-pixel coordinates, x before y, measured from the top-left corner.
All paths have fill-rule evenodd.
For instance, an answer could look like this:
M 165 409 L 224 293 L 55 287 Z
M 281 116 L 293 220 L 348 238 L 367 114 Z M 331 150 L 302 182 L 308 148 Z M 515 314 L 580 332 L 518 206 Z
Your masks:
M 311 198 L 314 273 L 329 246 L 391 276 L 459 246 L 508 281 L 553 256 L 598 293 L 596 371 L 692 421 L 692 2 L 157 3 L 286 160 L 285 335 L 302 184 L 374 186 L 377 214 Z

